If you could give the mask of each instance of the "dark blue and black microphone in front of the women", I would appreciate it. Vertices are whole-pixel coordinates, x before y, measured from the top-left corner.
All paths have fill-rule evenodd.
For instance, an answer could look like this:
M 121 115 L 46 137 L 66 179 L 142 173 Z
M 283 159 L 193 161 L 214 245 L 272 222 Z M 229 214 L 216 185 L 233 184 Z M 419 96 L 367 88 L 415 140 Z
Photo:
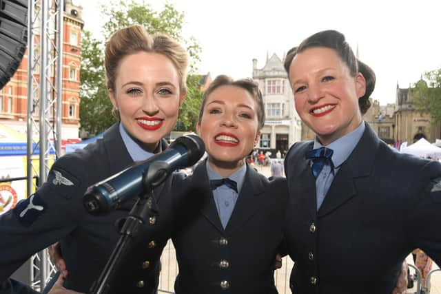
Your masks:
M 88 187 L 83 206 L 92 215 L 107 213 L 129 198 L 152 191 L 176 169 L 194 165 L 204 152 L 205 145 L 199 136 L 190 134 L 176 138 L 160 154 L 135 162 L 118 174 Z

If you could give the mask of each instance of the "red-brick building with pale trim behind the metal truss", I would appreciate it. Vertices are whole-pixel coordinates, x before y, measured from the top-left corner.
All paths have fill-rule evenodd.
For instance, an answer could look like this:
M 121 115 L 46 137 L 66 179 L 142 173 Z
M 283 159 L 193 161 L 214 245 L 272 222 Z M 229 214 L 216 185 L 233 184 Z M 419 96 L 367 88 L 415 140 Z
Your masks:
M 65 1 L 63 17 L 63 105 L 61 138 L 79 138 L 81 6 Z M 34 54 L 39 54 L 36 49 Z M 37 80 L 39 75 L 37 75 Z M 0 124 L 26 132 L 28 115 L 28 50 L 10 81 L 0 90 Z

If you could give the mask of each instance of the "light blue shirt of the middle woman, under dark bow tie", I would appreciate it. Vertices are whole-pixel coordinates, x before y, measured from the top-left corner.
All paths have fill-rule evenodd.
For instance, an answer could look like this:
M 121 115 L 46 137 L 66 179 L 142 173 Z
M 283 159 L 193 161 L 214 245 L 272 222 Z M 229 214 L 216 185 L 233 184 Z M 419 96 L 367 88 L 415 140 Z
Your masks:
M 209 166 L 208 160 L 206 162 L 206 167 L 209 180 L 223 179 L 222 176 L 219 176 L 219 174 Z M 216 209 L 224 229 L 227 227 L 229 218 L 232 216 L 233 209 L 236 206 L 238 194 L 240 193 L 240 189 L 242 189 L 246 173 L 247 165 L 244 164 L 240 169 L 235 171 L 234 174 L 228 177 L 230 180 L 236 181 L 237 193 L 225 185 L 219 186 L 213 190 L 214 203 L 216 203 Z

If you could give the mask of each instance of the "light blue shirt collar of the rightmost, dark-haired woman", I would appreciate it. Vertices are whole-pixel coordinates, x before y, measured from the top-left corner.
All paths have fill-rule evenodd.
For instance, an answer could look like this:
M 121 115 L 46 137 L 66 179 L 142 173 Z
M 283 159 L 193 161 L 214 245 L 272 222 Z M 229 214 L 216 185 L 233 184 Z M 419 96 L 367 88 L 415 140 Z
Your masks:
M 354 129 L 349 134 L 338 138 L 331 144 L 326 147 L 334 150 L 334 154 L 332 155 L 332 162 L 334 163 L 334 167 L 340 167 L 345 160 L 351 155 L 353 149 L 355 149 L 358 141 L 362 137 L 365 132 L 365 122 L 361 122 L 360 125 Z M 317 138 L 314 139 L 314 149 L 323 147 L 323 145 L 318 142 Z

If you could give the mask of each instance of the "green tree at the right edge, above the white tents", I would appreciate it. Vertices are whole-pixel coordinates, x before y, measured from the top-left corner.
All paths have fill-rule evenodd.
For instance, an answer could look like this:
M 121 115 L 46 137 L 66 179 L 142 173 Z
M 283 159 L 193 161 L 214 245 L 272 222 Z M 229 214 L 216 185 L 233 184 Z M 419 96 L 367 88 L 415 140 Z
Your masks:
M 441 68 L 424 73 L 412 91 L 417 109 L 429 111 L 435 123 L 441 122 Z

